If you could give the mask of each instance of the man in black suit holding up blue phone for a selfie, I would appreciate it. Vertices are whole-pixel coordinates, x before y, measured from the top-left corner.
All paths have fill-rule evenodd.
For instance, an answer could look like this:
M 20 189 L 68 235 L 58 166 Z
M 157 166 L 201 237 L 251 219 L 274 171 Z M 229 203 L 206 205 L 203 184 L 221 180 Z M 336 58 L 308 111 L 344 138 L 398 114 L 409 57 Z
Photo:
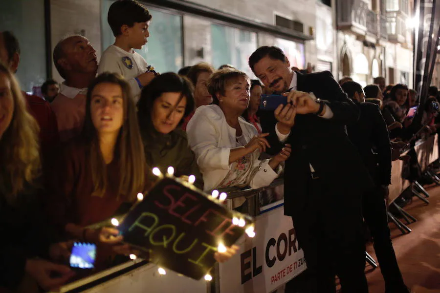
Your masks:
M 292 146 L 284 210 L 314 278 L 308 292 L 334 293 L 335 274 L 344 293 L 368 292 L 361 195 L 373 183 L 345 128 L 357 121 L 358 107 L 330 72 L 292 72 L 277 47 L 258 48 L 249 66 L 265 86 L 292 101 L 260 117 L 263 132 L 270 133 L 267 152 Z

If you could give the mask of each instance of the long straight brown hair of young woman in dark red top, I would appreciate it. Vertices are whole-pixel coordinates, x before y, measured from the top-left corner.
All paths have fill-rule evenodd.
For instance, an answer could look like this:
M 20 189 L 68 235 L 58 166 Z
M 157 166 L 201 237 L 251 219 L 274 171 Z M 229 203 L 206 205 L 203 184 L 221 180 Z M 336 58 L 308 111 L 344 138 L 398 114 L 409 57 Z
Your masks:
M 95 190 L 93 195 L 103 196 L 107 188 L 106 163 L 99 147 L 98 132 L 93 126 L 90 104 L 93 89 L 98 84 L 117 84 L 122 89 L 124 122 L 119 130 L 113 160 L 119 164 L 119 192 L 124 200 L 133 200 L 145 186 L 145 155 L 139 126 L 136 118 L 136 107 L 132 100 L 130 85 L 124 78 L 115 73 L 104 72 L 97 76 L 88 86 L 86 118 L 83 137 L 90 146 L 89 159 Z

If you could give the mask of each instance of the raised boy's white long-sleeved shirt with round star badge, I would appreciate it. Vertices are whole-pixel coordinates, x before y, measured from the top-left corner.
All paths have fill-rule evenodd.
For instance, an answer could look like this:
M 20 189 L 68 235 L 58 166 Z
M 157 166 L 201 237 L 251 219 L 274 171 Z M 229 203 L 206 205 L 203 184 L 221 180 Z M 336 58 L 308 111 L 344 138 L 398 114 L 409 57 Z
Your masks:
M 109 71 L 121 74 L 130 84 L 134 102 L 137 103 L 141 89 L 134 78 L 147 71 L 145 59 L 134 52 L 127 52 L 118 46 L 110 45 L 101 56 L 98 74 Z

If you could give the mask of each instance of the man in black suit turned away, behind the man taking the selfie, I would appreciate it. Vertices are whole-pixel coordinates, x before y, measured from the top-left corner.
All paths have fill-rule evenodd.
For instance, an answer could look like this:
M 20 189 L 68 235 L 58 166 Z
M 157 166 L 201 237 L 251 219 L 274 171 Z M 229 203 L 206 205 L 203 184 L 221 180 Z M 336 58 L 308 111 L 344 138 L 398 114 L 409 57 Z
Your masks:
M 347 82 L 342 89 L 360 109 L 357 123 L 347 126 L 352 143 L 357 147 L 365 166 L 374 180 L 374 188 L 363 197 L 365 223 L 373 237 L 374 251 L 385 280 L 386 293 L 409 293 L 403 283 L 391 243 L 385 198 L 391 184 L 391 143 L 388 128 L 377 105 L 365 103 L 360 84 Z

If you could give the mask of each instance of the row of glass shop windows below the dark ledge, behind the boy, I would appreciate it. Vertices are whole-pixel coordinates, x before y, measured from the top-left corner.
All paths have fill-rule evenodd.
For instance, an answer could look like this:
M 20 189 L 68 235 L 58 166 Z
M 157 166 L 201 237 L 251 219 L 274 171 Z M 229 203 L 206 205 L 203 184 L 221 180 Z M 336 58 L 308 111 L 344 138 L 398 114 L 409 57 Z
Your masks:
M 107 23 L 107 13 L 113 2 L 103 0 L 101 5 L 103 50 L 114 42 Z M 137 52 L 158 72 L 177 72 L 183 64 L 194 65 L 205 61 L 215 68 L 231 64 L 255 78 L 248 59 L 259 45 L 278 46 L 286 53 L 292 66 L 306 67 L 303 43 L 271 38 L 271 42 L 259 44 L 256 32 L 214 23 L 202 17 L 178 15 L 151 7 L 148 10 L 153 16 L 149 28 L 150 38 L 142 50 Z

